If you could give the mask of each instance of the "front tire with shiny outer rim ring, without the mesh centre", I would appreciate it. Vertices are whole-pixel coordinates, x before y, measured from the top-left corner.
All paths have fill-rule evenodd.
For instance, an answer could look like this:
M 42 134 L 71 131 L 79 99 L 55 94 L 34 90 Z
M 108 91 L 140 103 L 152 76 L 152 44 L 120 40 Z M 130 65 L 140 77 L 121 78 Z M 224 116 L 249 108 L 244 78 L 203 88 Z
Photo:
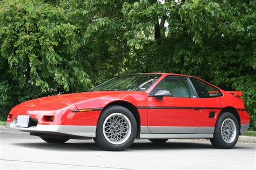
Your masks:
M 120 141 L 120 142 L 123 142 L 122 144 L 111 143 L 114 141 L 111 141 L 110 138 L 105 137 L 106 134 L 104 135 L 104 132 L 103 132 L 104 121 L 109 120 L 113 114 L 120 114 L 120 116 L 124 116 L 126 119 L 129 119 L 131 124 L 131 126 L 129 126 L 129 129 L 131 130 L 129 131 L 130 133 L 127 133 L 125 135 L 125 139 L 123 141 L 122 140 Z M 127 121 L 127 125 L 128 125 L 128 121 Z M 116 130 L 112 128 L 112 131 L 116 131 Z M 134 139 L 136 138 L 136 135 L 137 135 L 137 121 L 134 118 L 134 115 L 132 114 L 132 112 L 123 106 L 114 105 L 106 108 L 103 111 L 103 113 L 100 115 L 98 124 L 97 124 L 96 138 L 93 138 L 93 140 L 95 141 L 97 146 L 107 151 L 123 151 L 124 149 L 129 148 L 132 145 Z

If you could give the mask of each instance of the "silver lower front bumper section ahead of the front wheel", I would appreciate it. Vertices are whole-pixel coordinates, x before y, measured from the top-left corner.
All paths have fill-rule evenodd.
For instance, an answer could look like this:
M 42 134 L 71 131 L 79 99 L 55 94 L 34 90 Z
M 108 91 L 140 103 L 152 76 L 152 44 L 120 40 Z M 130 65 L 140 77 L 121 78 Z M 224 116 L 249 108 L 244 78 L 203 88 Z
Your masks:
M 73 126 L 73 125 L 36 125 L 30 127 L 16 127 L 16 121 L 6 123 L 6 128 L 20 130 L 22 132 L 54 134 L 67 137 L 96 137 L 96 126 Z

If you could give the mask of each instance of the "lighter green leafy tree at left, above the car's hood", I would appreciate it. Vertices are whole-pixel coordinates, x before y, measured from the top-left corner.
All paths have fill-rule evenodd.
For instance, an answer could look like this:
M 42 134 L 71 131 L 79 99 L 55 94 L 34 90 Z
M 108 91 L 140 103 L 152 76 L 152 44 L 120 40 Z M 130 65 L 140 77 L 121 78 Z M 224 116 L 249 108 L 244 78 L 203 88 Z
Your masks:
M 77 58 L 77 28 L 66 11 L 41 1 L 0 4 L 1 113 L 23 101 L 91 87 Z

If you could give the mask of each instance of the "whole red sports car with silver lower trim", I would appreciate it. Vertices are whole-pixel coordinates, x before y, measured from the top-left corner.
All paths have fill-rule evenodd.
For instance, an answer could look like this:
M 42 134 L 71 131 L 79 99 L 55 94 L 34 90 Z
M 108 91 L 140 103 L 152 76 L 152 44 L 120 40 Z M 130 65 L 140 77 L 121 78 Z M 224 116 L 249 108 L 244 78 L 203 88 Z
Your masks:
M 131 74 L 88 92 L 26 101 L 12 108 L 6 127 L 51 143 L 93 138 L 109 151 L 136 138 L 207 138 L 214 147 L 232 148 L 250 123 L 239 96 L 191 76 Z

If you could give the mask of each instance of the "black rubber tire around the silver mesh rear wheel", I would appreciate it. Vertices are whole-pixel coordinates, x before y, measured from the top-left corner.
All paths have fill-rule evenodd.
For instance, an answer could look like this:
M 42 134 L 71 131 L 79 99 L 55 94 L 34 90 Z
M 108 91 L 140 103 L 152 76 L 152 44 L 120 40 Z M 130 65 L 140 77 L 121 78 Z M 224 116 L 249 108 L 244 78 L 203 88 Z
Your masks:
M 235 133 L 233 134 L 233 139 L 230 142 L 225 141 L 223 135 L 221 134 L 221 126 L 223 125 L 224 121 L 228 119 L 230 121 L 233 120 L 236 128 Z M 230 112 L 222 112 L 218 117 L 213 133 L 213 138 L 210 138 L 210 141 L 215 148 L 231 149 L 235 146 L 235 144 L 237 144 L 239 132 L 240 129 L 237 118 L 235 118 L 235 116 Z

